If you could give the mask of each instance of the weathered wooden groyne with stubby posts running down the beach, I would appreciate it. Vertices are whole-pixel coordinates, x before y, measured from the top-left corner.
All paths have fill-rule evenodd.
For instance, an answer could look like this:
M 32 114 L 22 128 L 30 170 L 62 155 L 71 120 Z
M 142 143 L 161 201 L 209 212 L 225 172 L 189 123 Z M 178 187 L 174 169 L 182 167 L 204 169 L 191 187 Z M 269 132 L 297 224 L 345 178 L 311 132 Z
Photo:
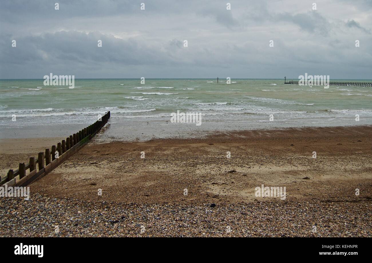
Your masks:
M 8 175 L 1 180 L 0 185 L 26 186 L 36 179 L 44 177 L 86 145 L 105 126 L 109 118 L 110 111 L 92 125 L 57 143 L 57 147 L 53 145 L 52 150 L 45 149 L 45 152 L 39 152 L 37 159 L 31 157 L 28 163 L 20 163 L 17 170 L 10 169 Z

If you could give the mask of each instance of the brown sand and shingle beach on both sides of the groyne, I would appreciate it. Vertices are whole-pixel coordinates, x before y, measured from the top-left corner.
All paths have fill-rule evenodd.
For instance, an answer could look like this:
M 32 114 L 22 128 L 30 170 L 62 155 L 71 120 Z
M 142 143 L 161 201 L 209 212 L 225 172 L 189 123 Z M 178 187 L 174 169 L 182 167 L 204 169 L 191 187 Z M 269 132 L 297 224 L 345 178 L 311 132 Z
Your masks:
M 31 200 L 0 200 L 0 234 L 371 237 L 371 139 L 371 126 L 94 138 L 31 184 Z M 17 142 L 14 151 L 0 142 L 2 171 L 39 151 Z M 286 198 L 256 197 L 262 184 L 285 186 Z

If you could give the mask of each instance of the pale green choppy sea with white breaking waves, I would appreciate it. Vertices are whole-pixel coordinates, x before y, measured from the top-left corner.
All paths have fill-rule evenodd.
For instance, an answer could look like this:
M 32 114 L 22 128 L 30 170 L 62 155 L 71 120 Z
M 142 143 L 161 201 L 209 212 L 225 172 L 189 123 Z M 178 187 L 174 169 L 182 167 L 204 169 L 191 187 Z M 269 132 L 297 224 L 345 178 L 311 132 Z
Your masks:
M 332 81 L 360 81 L 347 80 Z M 67 137 L 111 112 L 102 140 L 197 137 L 232 130 L 372 124 L 372 88 L 284 84 L 284 79 L 0 80 L 0 139 Z M 171 114 L 201 113 L 201 125 Z M 272 115 L 271 115 L 272 114 Z

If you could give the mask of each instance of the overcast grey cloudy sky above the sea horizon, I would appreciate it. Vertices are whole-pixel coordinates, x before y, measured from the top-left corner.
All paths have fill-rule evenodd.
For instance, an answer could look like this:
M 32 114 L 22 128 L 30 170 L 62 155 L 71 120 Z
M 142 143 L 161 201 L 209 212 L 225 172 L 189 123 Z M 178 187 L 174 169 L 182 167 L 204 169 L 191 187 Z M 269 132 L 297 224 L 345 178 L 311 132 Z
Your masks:
M 372 79 L 371 43 L 372 0 L 0 1 L 1 79 Z

